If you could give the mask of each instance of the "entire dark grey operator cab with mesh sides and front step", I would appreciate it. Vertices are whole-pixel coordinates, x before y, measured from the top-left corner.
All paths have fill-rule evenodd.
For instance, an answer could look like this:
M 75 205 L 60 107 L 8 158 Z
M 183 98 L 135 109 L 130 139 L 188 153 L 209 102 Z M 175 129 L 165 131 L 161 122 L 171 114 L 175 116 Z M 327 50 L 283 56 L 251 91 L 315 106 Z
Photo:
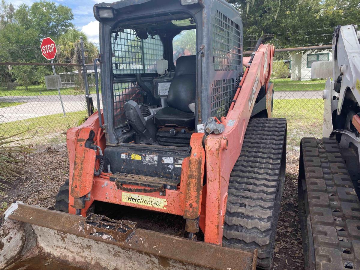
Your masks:
M 122 0 L 96 4 L 94 16 L 113 181 L 149 187 L 158 177 L 153 187 L 177 190 L 194 132 L 234 98 L 241 18 L 224 0 Z

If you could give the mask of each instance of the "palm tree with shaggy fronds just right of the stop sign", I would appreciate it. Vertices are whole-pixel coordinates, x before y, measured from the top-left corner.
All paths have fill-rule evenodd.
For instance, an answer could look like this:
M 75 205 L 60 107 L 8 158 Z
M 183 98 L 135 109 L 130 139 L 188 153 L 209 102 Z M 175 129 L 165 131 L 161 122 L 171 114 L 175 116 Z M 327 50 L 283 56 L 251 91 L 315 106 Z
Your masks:
M 74 28 L 69 29 L 66 33 L 59 37 L 59 61 L 64 63 L 81 64 L 80 37 L 82 37 L 84 41 L 85 63 L 93 62 L 99 54 L 98 48 L 94 43 L 87 41 L 87 36 L 84 32 L 78 31 Z M 80 89 L 84 90 L 84 81 L 81 76 L 80 66 L 78 66 L 78 80 L 80 82 Z

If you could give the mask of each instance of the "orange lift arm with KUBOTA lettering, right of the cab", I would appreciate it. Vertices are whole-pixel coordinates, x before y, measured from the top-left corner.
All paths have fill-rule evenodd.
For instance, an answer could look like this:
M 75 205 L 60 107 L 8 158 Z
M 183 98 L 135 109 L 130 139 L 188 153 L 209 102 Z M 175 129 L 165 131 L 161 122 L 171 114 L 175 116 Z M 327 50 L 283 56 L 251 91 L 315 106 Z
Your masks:
M 222 243 L 222 226 L 230 172 L 240 155 L 255 98 L 261 85 L 268 81 L 272 65 L 272 47 L 270 44 L 260 45 L 256 51 L 234 108 L 226 117 L 224 132 L 219 135 L 207 136 L 205 143 L 207 175 L 205 242 Z M 231 124 L 228 125 L 230 120 L 232 120 Z M 227 150 L 221 147 L 221 140 L 224 137 L 228 140 Z

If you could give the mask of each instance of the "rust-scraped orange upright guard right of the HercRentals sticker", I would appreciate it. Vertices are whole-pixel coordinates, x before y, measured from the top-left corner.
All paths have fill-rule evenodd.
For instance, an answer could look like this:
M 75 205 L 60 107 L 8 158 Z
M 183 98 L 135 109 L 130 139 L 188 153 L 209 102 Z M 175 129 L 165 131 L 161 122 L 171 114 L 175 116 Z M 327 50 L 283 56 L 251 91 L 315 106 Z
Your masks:
M 205 166 L 205 150 L 202 146 L 203 137 L 204 133 L 193 133 L 190 139 L 191 155 L 189 158 L 189 174 L 186 181 L 185 219 L 196 219 L 200 216 Z

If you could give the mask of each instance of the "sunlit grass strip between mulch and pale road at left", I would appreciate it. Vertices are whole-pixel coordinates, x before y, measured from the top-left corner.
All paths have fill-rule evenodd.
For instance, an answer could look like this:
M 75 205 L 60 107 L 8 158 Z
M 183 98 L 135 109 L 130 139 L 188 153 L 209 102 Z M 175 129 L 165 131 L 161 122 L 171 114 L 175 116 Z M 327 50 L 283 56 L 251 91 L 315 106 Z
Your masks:
M 19 138 L 29 138 L 33 144 L 44 144 L 47 142 L 59 142 L 65 140 L 61 132 L 68 127 L 77 126 L 78 121 L 86 115 L 86 111 L 69 112 L 66 117 L 62 113 L 47 116 L 34 117 L 8 123 L 0 123 L 0 136 L 18 134 Z M 28 143 L 28 142 L 27 142 Z

